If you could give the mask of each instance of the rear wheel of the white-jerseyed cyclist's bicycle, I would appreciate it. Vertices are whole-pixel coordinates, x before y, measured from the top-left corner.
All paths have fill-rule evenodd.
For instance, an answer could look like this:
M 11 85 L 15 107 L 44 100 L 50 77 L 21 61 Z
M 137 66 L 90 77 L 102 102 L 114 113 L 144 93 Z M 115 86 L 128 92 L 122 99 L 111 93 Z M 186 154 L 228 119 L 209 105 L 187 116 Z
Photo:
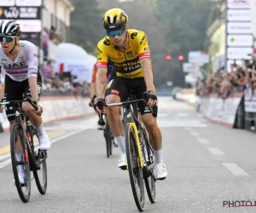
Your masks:
M 39 141 L 38 138 L 38 132 L 37 130 L 35 130 L 34 128 L 31 129 L 30 131 L 32 138 L 32 144 L 34 144 L 34 139 L 36 139 L 36 141 Z M 45 151 L 40 151 L 41 154 L 39 156 L 39 158 L 44 157 Z M 33 154 L 35 154 L 33 152 Z M 38 156 L 34 155 L 35 160 L 38 160 Z M 41 176 L 38 173 L 42 173 Z M 35 181 L 38 187 L 38 191 L 39 193 L 41 193 L 42 195 L 46 193 L 47 191 L 47 164 L 46 164 L 46 159 L 44 159 L 44 161 L 40 164 L 40 170 L 33 170 L 33 175 L 35 177 Z M 42 178 L 42 180 L 41 180 Z

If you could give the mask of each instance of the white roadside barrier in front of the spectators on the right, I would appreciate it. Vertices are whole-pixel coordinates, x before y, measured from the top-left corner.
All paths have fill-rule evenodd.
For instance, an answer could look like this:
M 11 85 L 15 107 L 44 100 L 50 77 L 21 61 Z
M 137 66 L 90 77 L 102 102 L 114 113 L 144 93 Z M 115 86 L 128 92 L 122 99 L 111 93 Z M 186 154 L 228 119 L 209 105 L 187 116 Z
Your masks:
M 256 89 L 237 91 L 227 98 L 218 94 L 196 96 L 192 89 L 177 91 L 174 98 L 188 102 L 212 123 L 256 133 Z

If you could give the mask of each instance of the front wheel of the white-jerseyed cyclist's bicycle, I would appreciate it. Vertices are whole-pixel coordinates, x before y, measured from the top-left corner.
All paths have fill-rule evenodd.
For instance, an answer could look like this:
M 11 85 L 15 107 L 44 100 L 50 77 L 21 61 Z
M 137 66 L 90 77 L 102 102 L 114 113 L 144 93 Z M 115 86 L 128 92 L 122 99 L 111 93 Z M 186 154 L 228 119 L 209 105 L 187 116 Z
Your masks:
M 31 194 L 31 178 L 30 178 L 30 166 L 29 158 L 26 147 L 25 132 L 20 123 L 15 123 L 12 126 L 10 133 L 10 151 L 12 167 L 15 177 L 15 186 L 20 195 L 20 199 L 27 203 L 30 199 Z M 20 143 L 18 143 L 20 141 Z M 21 157 L 19 160 L 16 159 L 15 153 L 18 153 Z M 24 183 L 20 183 L 19 170 L 24 170 Z M 21 171 L 22 172 L 22 171 Z

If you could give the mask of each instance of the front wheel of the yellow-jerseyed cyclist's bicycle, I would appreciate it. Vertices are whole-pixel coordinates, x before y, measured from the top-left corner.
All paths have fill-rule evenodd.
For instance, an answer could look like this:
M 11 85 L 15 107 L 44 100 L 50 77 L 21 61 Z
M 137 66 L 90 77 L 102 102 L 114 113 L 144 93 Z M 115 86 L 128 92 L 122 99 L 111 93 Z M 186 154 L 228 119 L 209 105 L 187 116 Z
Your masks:
M 145 204 L 143 169 L 139 164 L 135 132 L 130 124 L 125 126 L 125 147 L 133 198 L 137 209 L 143 211 Z

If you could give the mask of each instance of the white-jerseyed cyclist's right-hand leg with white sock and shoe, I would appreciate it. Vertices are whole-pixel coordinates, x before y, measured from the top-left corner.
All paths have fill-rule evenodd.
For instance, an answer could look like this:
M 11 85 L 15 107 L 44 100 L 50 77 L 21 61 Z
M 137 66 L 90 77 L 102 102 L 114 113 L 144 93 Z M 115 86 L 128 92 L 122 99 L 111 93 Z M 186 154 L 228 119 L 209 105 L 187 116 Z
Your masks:
M 42 78 L 38 72 L 38 97 L 40 99 L 42 89 Z M 24 98 L 27 96 L 31 97 L 31 91 L 29 89 L 29 84 L 27 82 L 26 88 L 24 89 Z M 49 137 L 44 130 L 43 119 L 41 116 L 38 116 L 36 113 L 32 111 L 32 106 L 28 102 L 24 102 L 22 104 L 22 110 L 26 113 L 26 116 L 30 119 L 31 123 L 37 127 L 38 129 L 38 136 L 40 142 L 40 149 L 41 150 L 48 150 L 50 147 Z

